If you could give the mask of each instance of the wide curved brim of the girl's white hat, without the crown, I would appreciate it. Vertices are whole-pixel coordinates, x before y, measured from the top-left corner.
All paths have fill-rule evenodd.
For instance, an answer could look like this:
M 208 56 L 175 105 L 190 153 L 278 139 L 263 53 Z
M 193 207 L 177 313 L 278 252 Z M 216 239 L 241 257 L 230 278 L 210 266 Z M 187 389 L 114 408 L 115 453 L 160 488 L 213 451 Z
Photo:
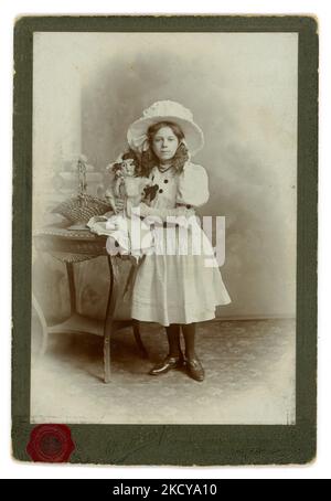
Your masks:
M 134 121 L 128 129 L 128 143 L 130 148 L 134 150 L 136 149 L 136 138 L 146 135 L 149 127 L 160 121 L 172 121 L 173 124 L 179 125 L 182 129 L 183 135 L 185 137 L 186 145 L 189 147 L 191 156 L 195 154 L 199 150 L 203 148 L 204 139 L 203 139 L 203 131 L 201 128 L 194 124 L 194 121 L 185 120 L 184 118 L 175 117 L 175 116 L 154 116 L 148 118 L 139 118 L 138 120 Z

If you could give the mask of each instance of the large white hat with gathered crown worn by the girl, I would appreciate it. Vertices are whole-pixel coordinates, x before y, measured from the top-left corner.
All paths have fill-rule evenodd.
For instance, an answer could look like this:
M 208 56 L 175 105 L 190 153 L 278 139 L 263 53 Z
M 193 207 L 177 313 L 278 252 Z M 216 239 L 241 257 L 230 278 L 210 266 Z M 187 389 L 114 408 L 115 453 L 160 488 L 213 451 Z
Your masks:
M 172 121 L 180 126 L 191 156 L 203 148 L 203 132 L 194 122 L 192 113 L 173 100 L 158 100 L 143 110 L 141 118 L 130 125 L 127 136 L 130 148 L 135 151 L 143 151 L 148 145 L 148 128 L 160 121 Z

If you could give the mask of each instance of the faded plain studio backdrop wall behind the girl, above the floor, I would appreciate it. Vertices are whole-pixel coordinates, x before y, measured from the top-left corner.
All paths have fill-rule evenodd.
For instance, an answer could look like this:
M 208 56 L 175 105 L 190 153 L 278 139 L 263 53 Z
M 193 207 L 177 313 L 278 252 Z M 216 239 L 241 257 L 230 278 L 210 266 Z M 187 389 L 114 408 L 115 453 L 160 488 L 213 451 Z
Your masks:
M 84 152 L 102 172 L 145 107 L 178 100 L 205 135 L 195 160 L 211 198 L 201 214 L 226 216 L 222 274 L 233 302 L 217 315 L 295 316 L 297 34 L 36 33 L 33 84 L 34 228 L 64 196 L 52 179 L 66 162 Z M 64 316 L 63 267 L 36 263 L 45 311 Z M 78 308 L 103 317 L 105 260 L 78 269 Z

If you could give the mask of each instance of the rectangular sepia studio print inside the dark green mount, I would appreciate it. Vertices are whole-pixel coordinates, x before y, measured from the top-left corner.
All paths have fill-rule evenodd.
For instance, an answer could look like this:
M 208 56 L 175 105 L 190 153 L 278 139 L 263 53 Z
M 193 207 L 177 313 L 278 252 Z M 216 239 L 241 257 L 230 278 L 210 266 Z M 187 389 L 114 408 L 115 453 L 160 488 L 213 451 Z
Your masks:
M 296 425 L 298 39 L 34 31 L 31 423 Z

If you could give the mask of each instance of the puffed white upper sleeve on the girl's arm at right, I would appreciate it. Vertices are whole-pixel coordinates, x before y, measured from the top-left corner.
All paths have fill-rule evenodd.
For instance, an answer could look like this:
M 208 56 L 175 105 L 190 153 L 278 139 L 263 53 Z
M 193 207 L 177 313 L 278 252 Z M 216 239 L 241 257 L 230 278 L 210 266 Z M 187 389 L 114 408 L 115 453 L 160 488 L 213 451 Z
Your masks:
M 177 203 L 200 207 L 209 198 L 209 177 L 205 169 L 196 163 L 188 163 L 180 174 Z

